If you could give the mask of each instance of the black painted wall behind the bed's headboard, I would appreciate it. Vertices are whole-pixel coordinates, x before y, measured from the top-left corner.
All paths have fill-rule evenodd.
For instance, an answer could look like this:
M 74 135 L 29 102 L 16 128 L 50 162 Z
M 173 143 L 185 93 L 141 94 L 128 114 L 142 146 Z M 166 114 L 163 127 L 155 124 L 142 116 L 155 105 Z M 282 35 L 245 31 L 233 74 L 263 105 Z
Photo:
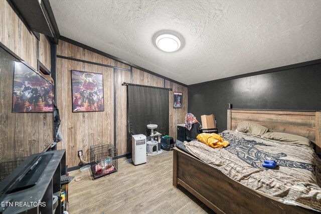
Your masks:
M 214 114 L 221 132 L 226 129 L 227 103 L 232 103 L 233 109 L 321 110 L 321 60 L 317 62 L 304 67 L 286 66 L 273 73 L 191 85 L 188 112 L 200 122 L 201 115 Z

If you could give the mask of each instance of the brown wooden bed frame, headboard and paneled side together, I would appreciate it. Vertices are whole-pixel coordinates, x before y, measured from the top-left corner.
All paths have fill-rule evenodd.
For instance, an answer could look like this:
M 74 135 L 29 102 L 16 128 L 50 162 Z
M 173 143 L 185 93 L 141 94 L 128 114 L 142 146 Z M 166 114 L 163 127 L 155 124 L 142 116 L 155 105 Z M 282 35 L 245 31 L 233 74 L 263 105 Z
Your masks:
M 251 121 L 274 132 L 307 137 L 320 153 L 321 112 L 227 110 L 227 129 Z M 216 213 L 319 213 L 261 195 L 218 169 L 177 148 L 173 152 L 173 185 L 180 184 Z

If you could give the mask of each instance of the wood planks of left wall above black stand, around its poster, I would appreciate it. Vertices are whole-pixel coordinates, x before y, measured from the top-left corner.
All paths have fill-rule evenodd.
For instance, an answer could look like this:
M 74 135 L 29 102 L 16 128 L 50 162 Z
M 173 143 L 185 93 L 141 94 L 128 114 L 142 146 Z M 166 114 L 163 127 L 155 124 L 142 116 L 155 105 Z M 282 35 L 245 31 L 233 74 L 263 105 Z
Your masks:
M 40 54 L 50 64 L 50 48 L 46 38 Z M 6 0 L 0 0 L 0 42 L 37 70 L 37 38 L 29 32 Z M 47 44 L 46 44 L 47 42 Z M 50 47 L 50 46 L 49 46 Z M 3 51 L 3 50 L 2 50 Z M 50 113 L 11 113 L 14 67 L 13 57 L 2 52 L 0 70 L 0 161 L 28 156 L 43 151 L 53 140 Z M 49 59 L 49 60 L 48 60 Z M 6 64 L 6 62 L 10 63 Z M 50 66 L 48 67 L 50 69 Z

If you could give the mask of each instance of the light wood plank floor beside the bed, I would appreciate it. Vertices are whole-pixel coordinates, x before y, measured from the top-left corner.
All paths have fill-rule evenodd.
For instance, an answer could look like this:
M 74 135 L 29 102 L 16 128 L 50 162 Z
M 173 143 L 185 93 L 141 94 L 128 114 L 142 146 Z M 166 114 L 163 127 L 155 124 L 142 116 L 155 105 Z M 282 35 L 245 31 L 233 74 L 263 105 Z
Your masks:
M 121 158 L 118 161 L 124 161 Z M 89 170 L 71 171 L 69 213 L 211 213 L 183 187 L 172 185 L 173 151 L 147 156 L 147 163 L 118 163 L 118 171 L 92 180 Z

